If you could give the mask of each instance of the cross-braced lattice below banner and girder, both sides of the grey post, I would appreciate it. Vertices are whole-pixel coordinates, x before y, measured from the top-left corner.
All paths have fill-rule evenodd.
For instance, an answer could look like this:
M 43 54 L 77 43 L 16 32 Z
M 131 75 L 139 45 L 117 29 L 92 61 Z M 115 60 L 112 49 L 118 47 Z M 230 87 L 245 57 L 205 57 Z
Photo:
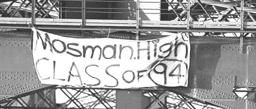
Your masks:
M 55 90 L 59 90 L 56 92 L 61 91 L 68 98 L 67 101 L 56 104 Z M 21 98 L 14 98 L 1 104 L 0 107 L 8 109 L 116 109 L 116 91 L 118 90 L 57 86 Z M 220 109 L 161 89 L 158 91 L 144 89 L 143 93 L 151 100 L 144 109 Z M 37 98 L 35 98 L 36 96 Z

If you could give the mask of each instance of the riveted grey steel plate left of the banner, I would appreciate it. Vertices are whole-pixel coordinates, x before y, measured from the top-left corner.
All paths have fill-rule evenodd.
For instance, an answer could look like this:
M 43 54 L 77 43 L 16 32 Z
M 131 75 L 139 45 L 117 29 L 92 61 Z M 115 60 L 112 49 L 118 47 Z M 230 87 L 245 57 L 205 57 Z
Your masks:
M 28 34 L 0 33 L 0 102 L 52 87 L 38 80 L 30 42 Z

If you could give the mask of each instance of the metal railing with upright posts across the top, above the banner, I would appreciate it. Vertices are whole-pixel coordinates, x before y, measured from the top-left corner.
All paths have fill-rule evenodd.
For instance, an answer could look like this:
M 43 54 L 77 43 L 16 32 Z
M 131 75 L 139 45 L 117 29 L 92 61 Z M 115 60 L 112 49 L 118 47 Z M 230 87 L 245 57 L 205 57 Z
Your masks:
M 0 24 L 10 28 L 36 25 L 43 29 L 117 27 L 118 30 L 166 31 L 176 28 L 171 30 L 202 32 L 231 29 L 247 33 L 255 32 L 252 29 L 256 28 L 256 3 L 252 1 L 16 0 L 0 3 Z

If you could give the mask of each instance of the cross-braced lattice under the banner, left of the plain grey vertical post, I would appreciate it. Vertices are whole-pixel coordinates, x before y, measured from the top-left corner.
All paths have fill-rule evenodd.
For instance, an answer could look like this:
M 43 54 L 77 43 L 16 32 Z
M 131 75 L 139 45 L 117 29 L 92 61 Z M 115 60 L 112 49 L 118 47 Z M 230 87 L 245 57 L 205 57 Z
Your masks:
M 115 106 L 114 90 L 76 89 L 75 87 L 56 87 L 69 98 L 60 108 L 88 108 L 95 109 L 101 106 L 113 109 Z M 114 105 L 113 105 L 114 104 Z

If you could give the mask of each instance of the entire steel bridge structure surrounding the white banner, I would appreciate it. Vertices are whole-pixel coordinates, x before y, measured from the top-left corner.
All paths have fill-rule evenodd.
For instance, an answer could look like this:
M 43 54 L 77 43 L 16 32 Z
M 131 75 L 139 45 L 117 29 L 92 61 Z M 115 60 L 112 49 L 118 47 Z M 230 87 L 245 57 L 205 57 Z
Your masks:
M 41 84 L 32 27 L 67 37 L 132 40 L 187 32 L 189 85 Z M 0 0 L 0 108 L 255 109 L 255 33 L 255 0 Z M 66 101 L 57 103 L 58 94 Z

